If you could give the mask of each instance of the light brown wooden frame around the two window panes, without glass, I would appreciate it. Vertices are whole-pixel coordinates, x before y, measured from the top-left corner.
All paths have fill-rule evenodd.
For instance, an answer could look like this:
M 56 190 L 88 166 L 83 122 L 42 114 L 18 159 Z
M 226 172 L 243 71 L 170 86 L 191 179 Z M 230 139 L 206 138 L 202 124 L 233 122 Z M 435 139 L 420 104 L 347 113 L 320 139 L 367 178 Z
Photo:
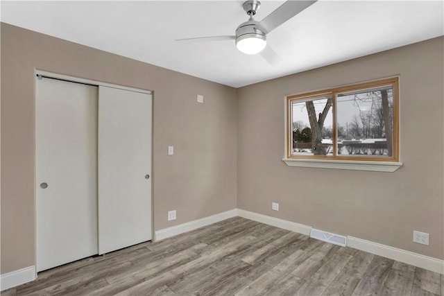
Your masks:
M 336 95 L 344 92 L 354 92 L 357 90 L 373 89 L 377 87 L 383 87 L 391 85 L 393 88 L 393 152 L 392 156 L 356 156 L 356 155 L 337 155 L 337 139 L 336 139 Z M 293 108 L 292 103 L 295 101 L 307 101 L 311 99 L 321 98 L 325 96 L 332 97 L 332 142 L 333 142 L 333 155 L 292 155 L 293 139 L 292 139 L 292 122 L 293 122 Z M 296 94 L 286 97 L 286 109 L 287 109 L 287 122 L 286 122 L 286 159 L 302 160 L 319 162 L 343 162 L 352 164 L 353 162 L 371 163 L 371 162 L 391 162 L 399 163 L 400 151 L 399 151 L 399 77 L 384 78 L 380 80 L 373 80 L 370 82 L 362 82 L 354 85 L 345 85 L 341 87 L 334 87 L 331 89 L 322 89 L 316 92 L 305 92 L 302 94 Z M 287 164 L 289 164 L 287 162 Z M 293 164 L 289 164 L 294 166 Z M 401 165 L 401 164 L 400 164 Z M 298 165 L 299 166 L 299 165 Z M 322 167 L 322 166 L 321 166 Z M 368 171 L 368 170 L 366 170 Z

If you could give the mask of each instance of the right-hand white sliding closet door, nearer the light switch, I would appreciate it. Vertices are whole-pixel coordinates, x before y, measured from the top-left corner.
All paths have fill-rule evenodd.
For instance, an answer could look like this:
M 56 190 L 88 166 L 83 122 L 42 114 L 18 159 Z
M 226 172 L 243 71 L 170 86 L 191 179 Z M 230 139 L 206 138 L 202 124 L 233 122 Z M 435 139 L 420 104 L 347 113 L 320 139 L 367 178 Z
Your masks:
M 99 86 L 99 254 L 151 240 L 151 94 Z

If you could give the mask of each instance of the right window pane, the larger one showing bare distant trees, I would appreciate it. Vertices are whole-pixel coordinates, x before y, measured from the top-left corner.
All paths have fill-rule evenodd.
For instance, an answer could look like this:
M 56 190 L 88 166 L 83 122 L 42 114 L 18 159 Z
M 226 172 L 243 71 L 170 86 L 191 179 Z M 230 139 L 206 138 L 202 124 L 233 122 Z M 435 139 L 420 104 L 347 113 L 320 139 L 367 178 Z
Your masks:
M 336 95 L 337 152 L 340 156 L 393 155 L 393 87 Z

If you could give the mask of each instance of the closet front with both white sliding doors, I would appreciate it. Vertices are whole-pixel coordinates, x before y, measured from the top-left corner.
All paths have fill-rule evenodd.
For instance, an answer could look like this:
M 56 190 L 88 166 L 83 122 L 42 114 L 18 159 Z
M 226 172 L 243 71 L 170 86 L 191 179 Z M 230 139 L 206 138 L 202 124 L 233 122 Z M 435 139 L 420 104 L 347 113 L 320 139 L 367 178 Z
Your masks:
M 37 271 L 151 240 L 151 92 L 35 85 Z

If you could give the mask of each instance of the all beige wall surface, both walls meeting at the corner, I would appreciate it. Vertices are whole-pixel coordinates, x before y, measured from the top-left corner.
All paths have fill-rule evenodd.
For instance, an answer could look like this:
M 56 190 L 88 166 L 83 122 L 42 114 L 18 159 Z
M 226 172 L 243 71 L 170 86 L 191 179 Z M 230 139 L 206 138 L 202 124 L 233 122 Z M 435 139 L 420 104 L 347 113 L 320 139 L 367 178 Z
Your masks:
M 443 259 L 443 40 L 236 90 L 1 24 L 1 274 L 35 264 L 34 69 L 154 90 L 155 229 L 239 207 Z M 285 95 L 398 74 L 402 168 L 282 162 Z

